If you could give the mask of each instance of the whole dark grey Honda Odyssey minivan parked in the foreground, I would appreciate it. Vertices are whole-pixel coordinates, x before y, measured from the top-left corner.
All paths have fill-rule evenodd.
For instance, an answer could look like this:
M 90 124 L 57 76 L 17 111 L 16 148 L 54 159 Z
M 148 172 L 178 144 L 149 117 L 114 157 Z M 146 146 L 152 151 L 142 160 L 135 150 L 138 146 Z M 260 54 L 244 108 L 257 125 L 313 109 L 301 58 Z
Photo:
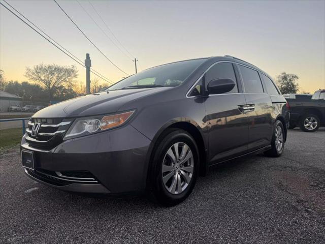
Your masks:
M 144 70 L 44 108 L 21 141 L 25 173 L 61 190 L 144 192 L 175 205 L 210 166 L 282 154 L 286 101 L 270 76 L 232 56 Z

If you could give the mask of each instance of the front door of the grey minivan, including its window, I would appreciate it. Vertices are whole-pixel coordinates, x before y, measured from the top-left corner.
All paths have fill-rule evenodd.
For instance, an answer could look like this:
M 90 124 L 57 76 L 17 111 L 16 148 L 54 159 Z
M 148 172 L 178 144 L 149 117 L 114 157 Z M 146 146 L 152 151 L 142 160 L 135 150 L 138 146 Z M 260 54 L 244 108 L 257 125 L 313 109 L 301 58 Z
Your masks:
M 206 122 L 209 128 L 209 162 L 233 158 L 247 151 L 248 117 L 239 110 L 246 104 L 243 93 L 239 93 L 232 63 L 217 63 L 205 74 L 205 85 L 218 78 L 231 78 L 237 85 L 228 93 L 209 95 L 205 101 Z

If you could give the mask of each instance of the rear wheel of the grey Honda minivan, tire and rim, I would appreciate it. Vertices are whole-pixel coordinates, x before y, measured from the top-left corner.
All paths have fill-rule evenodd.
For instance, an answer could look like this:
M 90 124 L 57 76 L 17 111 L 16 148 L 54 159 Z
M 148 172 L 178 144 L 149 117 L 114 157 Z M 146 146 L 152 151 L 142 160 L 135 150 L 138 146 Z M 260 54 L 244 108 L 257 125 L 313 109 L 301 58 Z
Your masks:
M 264 152 L 268 157 L 280 157 L 284 149 L 284 127 L 280 120 L 276 120 L 273 137 L 271 142 L 271 149 Z

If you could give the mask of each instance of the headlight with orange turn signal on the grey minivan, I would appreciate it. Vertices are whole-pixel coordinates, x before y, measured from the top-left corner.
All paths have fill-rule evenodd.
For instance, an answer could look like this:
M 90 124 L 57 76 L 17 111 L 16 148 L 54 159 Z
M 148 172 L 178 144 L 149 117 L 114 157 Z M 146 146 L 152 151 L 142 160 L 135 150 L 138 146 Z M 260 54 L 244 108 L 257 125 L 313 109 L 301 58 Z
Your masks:
M 121 126 L 131 117 L 134 112 L 135 110 L 113 115 L 77 118 L 69 128 L 67 134 L 64 136 L 64 139 L 85 136 Z

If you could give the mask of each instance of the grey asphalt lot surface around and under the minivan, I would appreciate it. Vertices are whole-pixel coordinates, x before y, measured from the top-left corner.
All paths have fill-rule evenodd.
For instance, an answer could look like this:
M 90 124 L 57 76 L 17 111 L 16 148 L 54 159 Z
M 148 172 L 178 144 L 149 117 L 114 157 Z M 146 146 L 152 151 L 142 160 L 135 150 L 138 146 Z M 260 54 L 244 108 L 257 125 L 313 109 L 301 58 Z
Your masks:
M 182 204 L 61 192 L 2 153 L 0 243 L 325 243 L 325 130 L 291 130 L 280 158 L 219 165 Z

